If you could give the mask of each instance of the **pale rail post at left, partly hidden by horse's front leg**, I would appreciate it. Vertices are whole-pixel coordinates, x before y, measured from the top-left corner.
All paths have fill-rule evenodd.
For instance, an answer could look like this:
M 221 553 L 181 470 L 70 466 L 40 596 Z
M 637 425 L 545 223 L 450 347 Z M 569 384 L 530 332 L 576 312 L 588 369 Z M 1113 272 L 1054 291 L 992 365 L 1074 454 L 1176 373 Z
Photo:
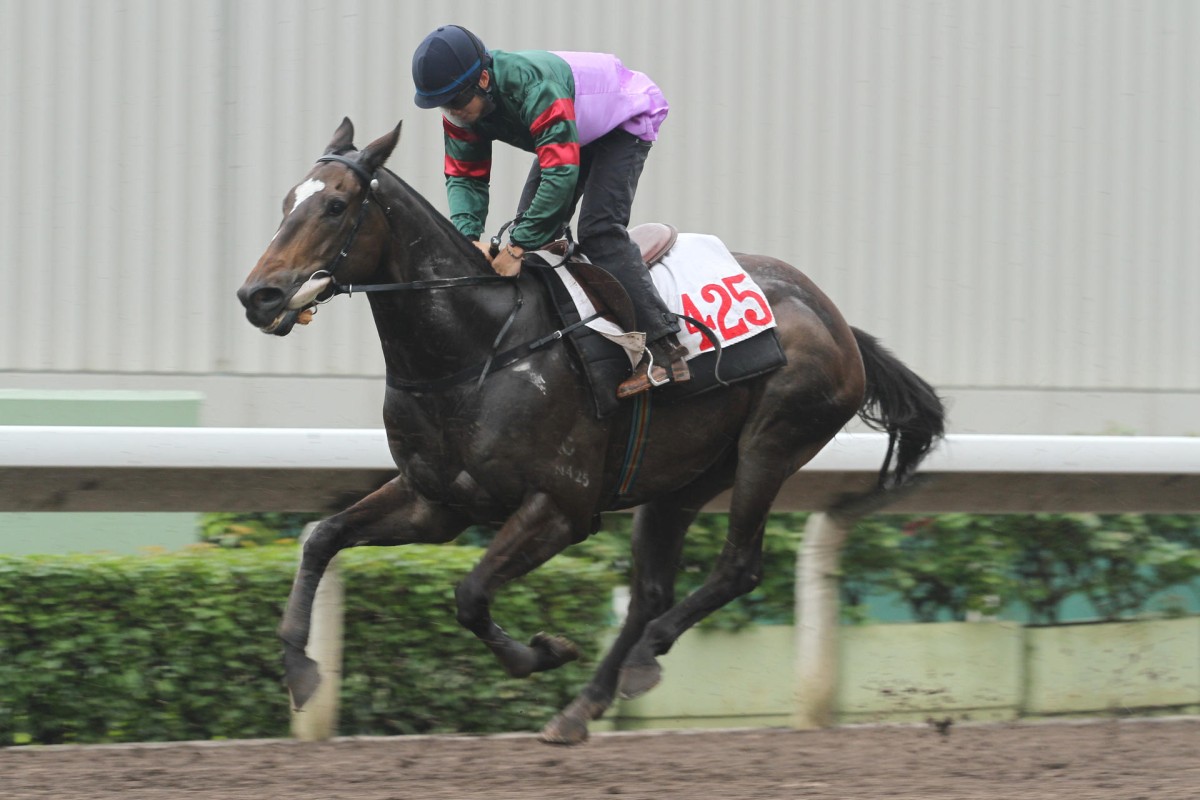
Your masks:
M 308 534 L 317 527 L 310 523 L 300 535 L 301 552 Z M 337 557 L 325 567 L 312 603 L 312 622 L 305 652 L 320 669 L 320 685 L 305 703 L 304 710 L 292 711 L 292 735 L 304 741 L 331 739 L 337 733 L 337 702 L 342 687 L 342 577 Z

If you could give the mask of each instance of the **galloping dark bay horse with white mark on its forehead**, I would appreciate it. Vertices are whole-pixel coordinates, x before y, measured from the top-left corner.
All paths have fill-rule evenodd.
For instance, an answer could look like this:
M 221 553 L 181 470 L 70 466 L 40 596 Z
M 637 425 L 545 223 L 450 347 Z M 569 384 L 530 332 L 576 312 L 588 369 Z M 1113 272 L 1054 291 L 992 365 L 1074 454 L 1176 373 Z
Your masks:
M 280 626 L 296 706 L 319 680 L 305 655 L 313 595 L 342 548 L 446 542 L 470 525 L 497 528 L 457 587 L 457 618 L 510 674 L 524 676 L 578 654 L 559 637 L 510 637 L 492 621 L 493 596 L 594 533 L 601 511 L 637 506 L 629 616 L 592 681 L 542 730 L 546 741 L 583 741 L 618 691 L 635 697 L 658 682 L 656 656 L 684 631 L 758 584 L 763 527 L 781 485 L 856 414 L 889 433 L 881 492 L 902 483 L 942 435 L 942 404 L 929 384 L 850 327 L 802 272 L 738 255 L 769 299 L 787 363 L 654 405 L 637 481 L 616 500 L 634 425 L 629 402 L 598 419 L 563 343 L 521 349 L 553 332 L 548 300 L 527 273 L 496 276 L 472 242 L 384 168 L 400 126 L 361 151 L 353 138 L 344 120 L 288 193 L 278 231 L 238 291 L 253 325 L 286 336 L 331 291 L 378 289 L 368 297 L 398 475 L 322 522 L 304 547 Z M 514 348 L 515 360 L 484 368 L 497 350 Z M 725 549 L 707 582 L 676 602 L 688 527 L 730 488 Z

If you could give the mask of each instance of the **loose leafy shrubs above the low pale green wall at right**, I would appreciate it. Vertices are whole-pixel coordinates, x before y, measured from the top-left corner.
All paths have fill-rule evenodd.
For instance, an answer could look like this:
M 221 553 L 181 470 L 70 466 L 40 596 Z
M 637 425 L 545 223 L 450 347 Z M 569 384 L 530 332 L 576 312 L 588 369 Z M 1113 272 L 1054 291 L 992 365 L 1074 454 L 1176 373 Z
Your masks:
M 796 551 L 808 515 L 767 522 L 763 581 L 701 622 L 737 630 L 791 622 Z M 701 515 L 684 543 L 677 591 L 700 585 L 725 546 L 727 515 Z M 570 551 L 628 581 L 629 517 Z M 1200 517 L 1195 515 L 874 515 L 860 519 L 841 558 L 848 622 L 877 607 L 917 621 L 971 613 L 1056 624 L 1200 610 Z

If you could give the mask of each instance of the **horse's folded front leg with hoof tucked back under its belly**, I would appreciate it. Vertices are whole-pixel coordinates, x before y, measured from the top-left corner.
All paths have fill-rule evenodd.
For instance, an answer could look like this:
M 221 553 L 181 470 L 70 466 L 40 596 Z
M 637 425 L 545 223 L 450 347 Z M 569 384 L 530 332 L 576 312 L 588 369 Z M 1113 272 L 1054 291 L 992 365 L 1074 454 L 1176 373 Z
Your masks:
M 542 633 L 529 644 L 517 642 L 492 620 L 492 599 L 505 583 L 541 566 L 587 533 L 572 525 L 550 495 L 533 494 L 509 517 L 484 558 L 458 584 L 458 622 L 479 637 L 514 678 L 560 667 L 577 658 L 578 650 L 564 638 Z

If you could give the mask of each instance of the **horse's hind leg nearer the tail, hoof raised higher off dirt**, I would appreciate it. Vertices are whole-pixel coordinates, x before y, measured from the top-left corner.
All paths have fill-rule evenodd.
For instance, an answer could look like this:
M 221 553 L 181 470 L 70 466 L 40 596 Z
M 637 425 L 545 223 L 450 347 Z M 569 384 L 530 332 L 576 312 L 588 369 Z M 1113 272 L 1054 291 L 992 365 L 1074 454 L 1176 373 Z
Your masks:
M 826 441 L 828 439 L 805 446 L 798 464 L 808 463 Z M 787 464 L 796 462 L 762 453 L 746 458 L 745 449 L 742 455 L 730 501 L 730 529 L 716 566 L 703 585 L 646 626 L 622 666 L 618 686 L 622 697 L 638 697 L 653 688 L 662 672 L 656 656 L 667 652 L 684 631 L 762 581 L 767 515 L 784 481 L 796 469 Z

